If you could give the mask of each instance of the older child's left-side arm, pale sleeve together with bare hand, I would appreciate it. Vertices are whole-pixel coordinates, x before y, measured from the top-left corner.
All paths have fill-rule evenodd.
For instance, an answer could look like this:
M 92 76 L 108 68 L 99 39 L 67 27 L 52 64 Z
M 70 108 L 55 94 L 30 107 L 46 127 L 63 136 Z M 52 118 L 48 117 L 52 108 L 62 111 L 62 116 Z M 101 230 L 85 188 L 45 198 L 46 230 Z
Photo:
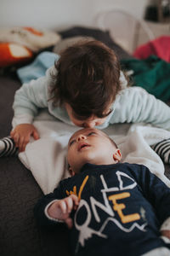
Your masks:
M 13 131 L 10 136 L 14 139 L 15 146 L 22 152 L 26 149 L 30 137 L 39 138 L 38 131 L 31 125 L 34 116 L 38 113 L 38 108 L 48 107 L 48 85 L 53 82 L 51 73 L 54 67 L 49 68 L 46 76 L 37 80 L 31 80 L 28 84 L 23 84 L 14 96 L 14 119 Z

